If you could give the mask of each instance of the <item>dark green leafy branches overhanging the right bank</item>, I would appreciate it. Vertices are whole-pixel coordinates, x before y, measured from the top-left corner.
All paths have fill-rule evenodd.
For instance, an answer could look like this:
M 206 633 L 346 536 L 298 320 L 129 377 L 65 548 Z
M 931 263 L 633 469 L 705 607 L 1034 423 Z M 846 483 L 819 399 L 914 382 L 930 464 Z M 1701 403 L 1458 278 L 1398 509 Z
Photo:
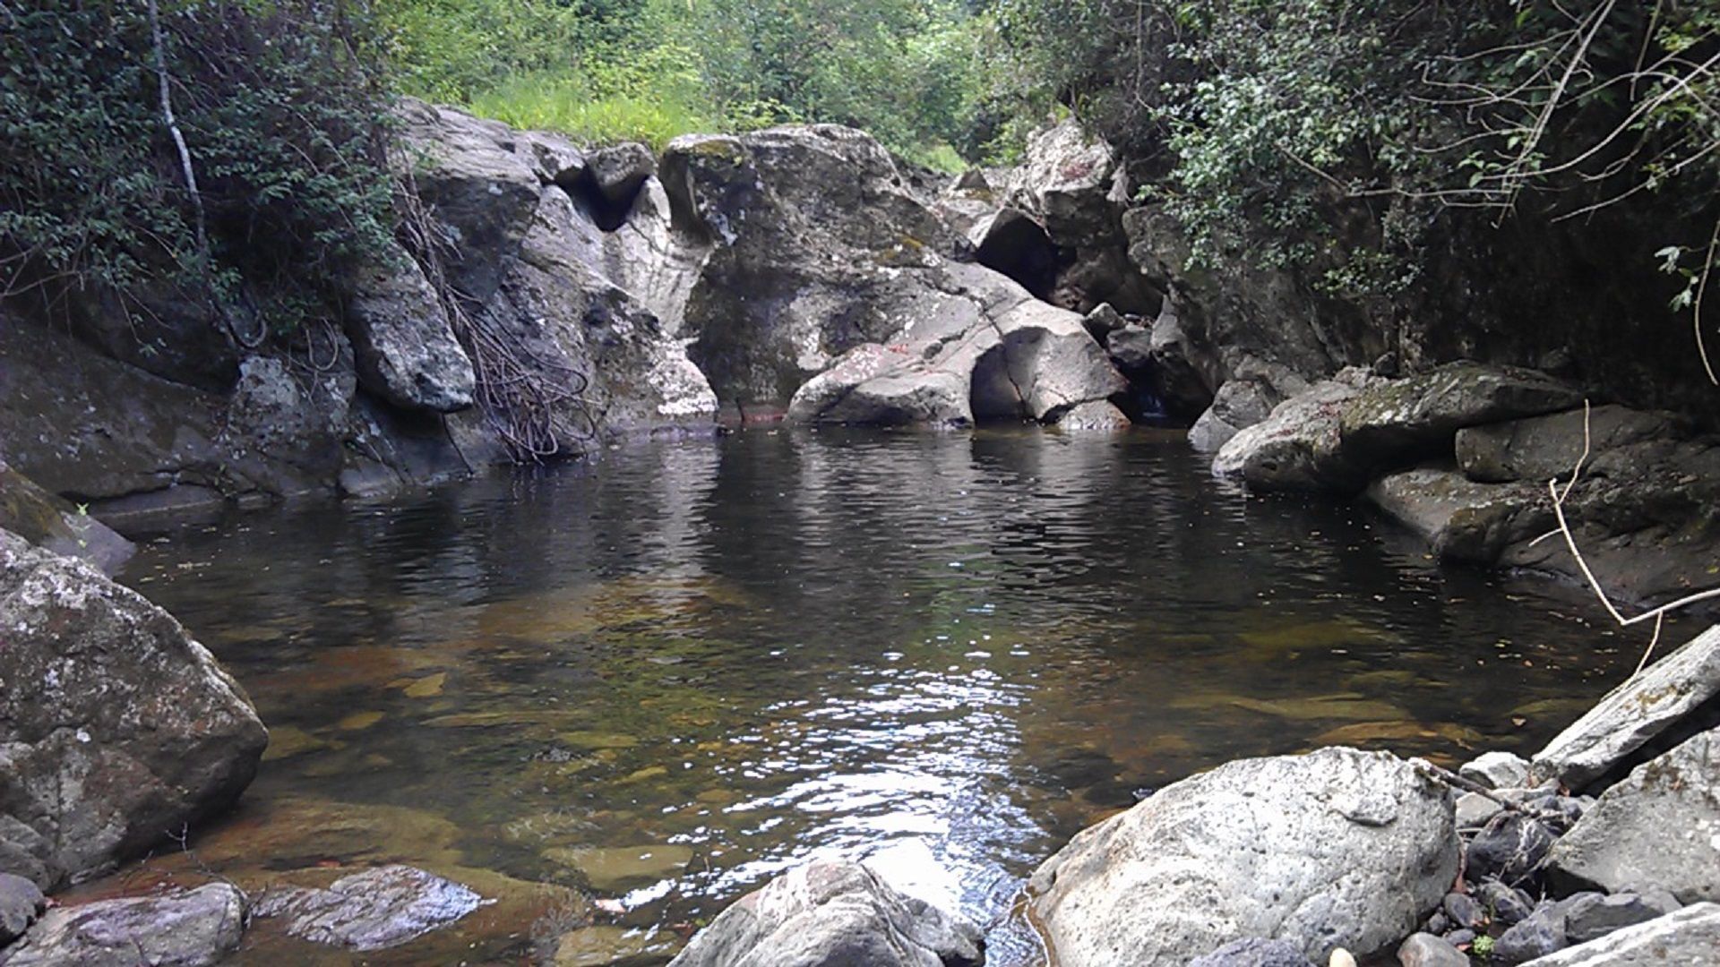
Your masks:
M 1135 157 L 1197 262 L 1391 294 L 1453 210 L 1545 220 L 1646 193 L 1698 241 L 1715 219 L 1711 2 L 1001 0 L 996 17 L 1013 96 L 1054 96 Z

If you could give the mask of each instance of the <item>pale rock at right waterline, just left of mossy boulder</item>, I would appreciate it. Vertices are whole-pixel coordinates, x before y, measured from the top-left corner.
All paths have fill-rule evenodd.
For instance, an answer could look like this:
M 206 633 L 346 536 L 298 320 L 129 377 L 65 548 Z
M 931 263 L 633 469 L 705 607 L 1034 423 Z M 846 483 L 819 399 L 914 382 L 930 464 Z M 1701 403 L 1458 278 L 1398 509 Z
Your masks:
M 1280 403 L 1219 447 L 1213 473 L 1238 477 L 1254 490 L 1361 490 L 1367 473 L 1343 449 L 1340 418 L 1374 382 L 1366 370 L 1348 368 Z

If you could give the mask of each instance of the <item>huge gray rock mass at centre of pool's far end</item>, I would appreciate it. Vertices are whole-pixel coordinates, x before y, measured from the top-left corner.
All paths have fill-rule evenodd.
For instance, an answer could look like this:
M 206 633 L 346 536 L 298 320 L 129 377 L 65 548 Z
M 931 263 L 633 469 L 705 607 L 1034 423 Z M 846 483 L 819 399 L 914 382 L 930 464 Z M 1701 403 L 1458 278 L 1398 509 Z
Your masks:
M 745 416 L 1054 423 L 1125 389 L 1078 315 L 968 262 L 863 132 L 678 138 L 662 177 L 710 246 L 679 334 Z

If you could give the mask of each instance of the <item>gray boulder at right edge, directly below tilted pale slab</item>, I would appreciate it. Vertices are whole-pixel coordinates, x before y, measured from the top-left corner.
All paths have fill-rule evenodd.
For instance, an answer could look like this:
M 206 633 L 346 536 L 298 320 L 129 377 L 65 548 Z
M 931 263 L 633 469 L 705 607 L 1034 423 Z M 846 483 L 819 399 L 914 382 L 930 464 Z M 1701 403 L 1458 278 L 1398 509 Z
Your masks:
M 1548 855 L 1555 878 L 1608 893 L 1720 900 L 1720 728 L 1644 762 L 1601 793 Z

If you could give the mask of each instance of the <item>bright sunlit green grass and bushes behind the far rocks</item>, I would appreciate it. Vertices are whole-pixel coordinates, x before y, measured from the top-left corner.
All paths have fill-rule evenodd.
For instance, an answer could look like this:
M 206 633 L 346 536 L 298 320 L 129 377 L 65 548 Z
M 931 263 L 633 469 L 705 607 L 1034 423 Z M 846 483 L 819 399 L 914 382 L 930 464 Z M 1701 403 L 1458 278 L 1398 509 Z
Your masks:
M 587 141 L 805 120 L 961 167 L 984 17 L 949 0 L 387 0 L 408 93 Z

